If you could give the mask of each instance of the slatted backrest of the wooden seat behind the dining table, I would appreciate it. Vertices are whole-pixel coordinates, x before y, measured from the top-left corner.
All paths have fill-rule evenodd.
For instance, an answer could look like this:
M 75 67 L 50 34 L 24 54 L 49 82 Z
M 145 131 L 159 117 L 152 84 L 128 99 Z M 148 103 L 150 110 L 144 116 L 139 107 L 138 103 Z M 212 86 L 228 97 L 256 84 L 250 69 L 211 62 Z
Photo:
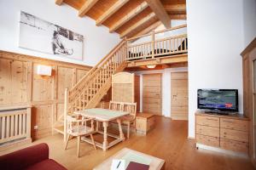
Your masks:
M 137 103 L 110 101 L 109 109 L 114 111 L 127 111 L 131 116 L 136 116 Z

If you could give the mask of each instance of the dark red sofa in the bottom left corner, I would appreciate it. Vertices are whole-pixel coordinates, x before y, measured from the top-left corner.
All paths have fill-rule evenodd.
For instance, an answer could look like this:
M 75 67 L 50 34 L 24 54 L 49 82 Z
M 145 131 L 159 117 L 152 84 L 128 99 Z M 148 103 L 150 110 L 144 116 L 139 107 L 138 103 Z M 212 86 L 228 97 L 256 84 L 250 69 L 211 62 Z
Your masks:
M 0 156 L 0 169 L 67 169 L 58 162 L 49 159 L 49 147 L 47 144 L 36 144 L 22 150 Z

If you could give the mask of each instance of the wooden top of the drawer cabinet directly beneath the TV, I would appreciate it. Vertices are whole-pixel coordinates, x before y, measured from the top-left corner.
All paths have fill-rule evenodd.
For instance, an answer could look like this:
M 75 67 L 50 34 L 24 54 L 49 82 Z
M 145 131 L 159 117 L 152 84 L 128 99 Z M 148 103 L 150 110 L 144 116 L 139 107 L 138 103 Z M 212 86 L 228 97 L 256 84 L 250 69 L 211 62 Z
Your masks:
M 219 115 L 219 114 L 215 114 L 215 113 L 205 113 L 203 111 L 196 111 L 195 116 L 222 117 L 222 118 L 229 118 L 229 119 L 240 119 L 240 120 L 244 120 L 244 121 L 249 120 L 249 118 L 247 116 L 241 115 L 238 113 L 232 114 L 232 115 Z

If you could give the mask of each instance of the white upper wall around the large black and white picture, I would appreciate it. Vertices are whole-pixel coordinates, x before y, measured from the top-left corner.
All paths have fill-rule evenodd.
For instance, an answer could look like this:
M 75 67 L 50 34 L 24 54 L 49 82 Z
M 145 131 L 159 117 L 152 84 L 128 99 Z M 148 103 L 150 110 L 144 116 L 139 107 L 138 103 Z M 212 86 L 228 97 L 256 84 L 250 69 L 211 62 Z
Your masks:
M 67 59 L 18 47 L 20 10 L 38 16 L 58 26 L 84 35 L 84 60 Z M 57 59 L 83 65 L 96 65 L 120 41 L 108 28 L 96 26 L 95 20 L 80 18 L 78 10 L 55 0 L 1 0 L 0 1 L 0 49 L 20 54 Z

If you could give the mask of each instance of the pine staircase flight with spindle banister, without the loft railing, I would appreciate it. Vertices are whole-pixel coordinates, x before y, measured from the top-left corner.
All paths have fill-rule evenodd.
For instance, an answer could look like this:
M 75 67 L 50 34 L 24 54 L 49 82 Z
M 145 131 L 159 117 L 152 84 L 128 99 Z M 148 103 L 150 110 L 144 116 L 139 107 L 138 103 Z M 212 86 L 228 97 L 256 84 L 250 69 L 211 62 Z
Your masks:
M 53 132 L 62 133 L 66 140 L 67 115 L 73 111 L 80 111 L 96 107 L 103 96 L 111 88 L 111 77 L 113 74 L 124 71 L 126 67 L 126 44 L 125 40 L 113 48 L 95 67 L 93 67 L 81 80 L 71 89 L 65 90 L 64 114 L 53 125 Z

